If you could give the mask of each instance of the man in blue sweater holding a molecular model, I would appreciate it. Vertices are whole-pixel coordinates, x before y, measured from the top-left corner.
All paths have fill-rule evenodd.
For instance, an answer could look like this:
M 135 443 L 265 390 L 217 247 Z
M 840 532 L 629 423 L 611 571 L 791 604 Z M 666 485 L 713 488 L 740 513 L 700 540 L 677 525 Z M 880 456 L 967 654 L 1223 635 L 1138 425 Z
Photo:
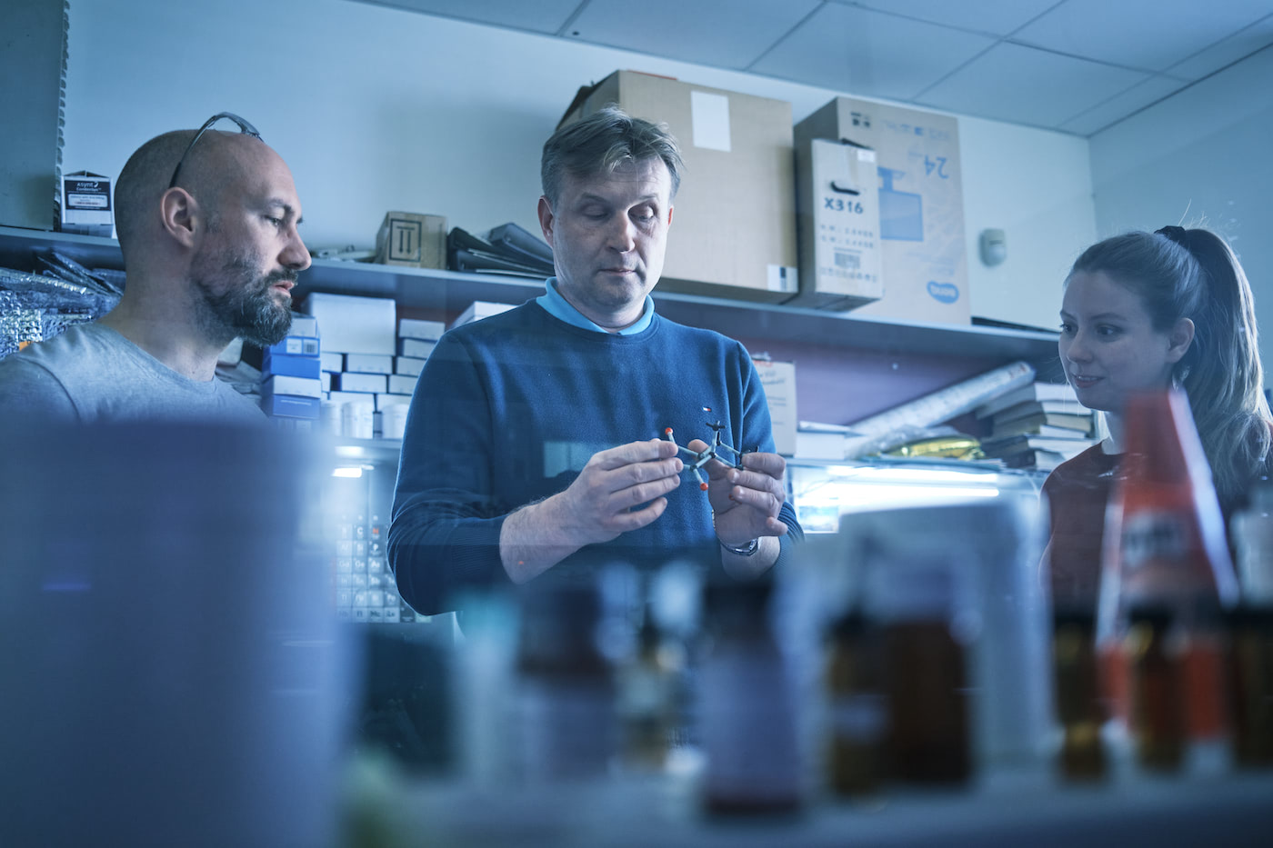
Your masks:
M 556 276 L 447 332 L 411 400 L 388 554 L 423 614 L 466 590 L 624 562 L 763 574 L 801 534 L 764 388 L 741 344 L 654 313 L 681 157 L 617 108 L 544 145 L 540 224 Z M 751 451 L 681 485 L 671 428 Z

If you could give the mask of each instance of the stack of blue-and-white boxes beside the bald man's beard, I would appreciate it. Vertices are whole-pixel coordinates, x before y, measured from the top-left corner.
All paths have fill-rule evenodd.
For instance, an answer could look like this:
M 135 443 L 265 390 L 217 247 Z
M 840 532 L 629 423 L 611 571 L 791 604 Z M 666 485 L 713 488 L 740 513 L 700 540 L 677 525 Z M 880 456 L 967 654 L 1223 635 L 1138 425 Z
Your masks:
M 288 337 L 261 353 L 261 409 L 276 427 L 312 429 L 322 385 L 318 321 L 293 316 Z

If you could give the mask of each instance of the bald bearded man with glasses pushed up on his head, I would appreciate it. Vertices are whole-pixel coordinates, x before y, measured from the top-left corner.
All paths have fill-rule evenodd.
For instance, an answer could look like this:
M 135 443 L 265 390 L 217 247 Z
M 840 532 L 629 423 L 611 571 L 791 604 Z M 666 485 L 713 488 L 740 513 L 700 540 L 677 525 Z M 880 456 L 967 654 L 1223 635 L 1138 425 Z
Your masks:
M 230 117 L 242 132 L 209 126 Z M 92 423 L 260 423 L 215 378 L 236 337 L 280 341 L 309 266 L 292 172 L 241 118 L 167 132 L 130 158 L 116 190 L 127 283 L 99 321 L 0 360 L 0 409 Z

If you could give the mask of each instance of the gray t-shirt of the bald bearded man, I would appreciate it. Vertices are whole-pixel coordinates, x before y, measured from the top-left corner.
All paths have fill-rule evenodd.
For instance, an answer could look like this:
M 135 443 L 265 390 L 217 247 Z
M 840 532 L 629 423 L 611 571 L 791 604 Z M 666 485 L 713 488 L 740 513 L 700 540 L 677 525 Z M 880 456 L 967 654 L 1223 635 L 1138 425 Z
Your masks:
M 197 381 L 99 323 L 83 323 L 0 359 L 5 416 L 87 424 L 185 420 L 261 424 L 265 414 L 220 379 Z

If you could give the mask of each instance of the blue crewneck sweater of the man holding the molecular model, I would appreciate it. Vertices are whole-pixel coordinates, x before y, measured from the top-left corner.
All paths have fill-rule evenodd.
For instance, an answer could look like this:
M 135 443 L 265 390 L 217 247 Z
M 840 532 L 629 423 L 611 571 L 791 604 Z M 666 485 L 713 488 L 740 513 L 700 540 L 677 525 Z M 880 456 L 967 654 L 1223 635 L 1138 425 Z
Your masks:
M 454 609 L 466 588 L 508 583 L 499 558 L 504 517 L 559 491 L 597 451 L 652 439 L 774 449 L 760 377 L 743 346 L 658 314 L 633 335 L 572 326 L 540 304 L 451 330 L 411 399 L 388 555 L 418 611 Z M 568 578 L 615 562 L 689 560 L 719 569 L 707 493 L 686 476 L 647 527 L 588 545 L 545 574 Z M 783 556 L 799 539 L 791 504 Z M 544 579 L 544 576 L 536 579 Z

